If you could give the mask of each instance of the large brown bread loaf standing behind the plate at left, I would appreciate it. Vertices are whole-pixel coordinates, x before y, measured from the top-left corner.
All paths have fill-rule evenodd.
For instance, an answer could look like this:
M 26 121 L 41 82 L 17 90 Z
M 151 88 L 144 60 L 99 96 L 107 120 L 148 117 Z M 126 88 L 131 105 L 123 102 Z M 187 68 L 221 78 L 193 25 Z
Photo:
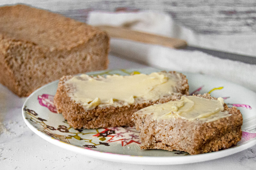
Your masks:
M 26 5 L 0 7 L 0 83 L 18 96 L 63 75 L 108 67 L 109 37 Z

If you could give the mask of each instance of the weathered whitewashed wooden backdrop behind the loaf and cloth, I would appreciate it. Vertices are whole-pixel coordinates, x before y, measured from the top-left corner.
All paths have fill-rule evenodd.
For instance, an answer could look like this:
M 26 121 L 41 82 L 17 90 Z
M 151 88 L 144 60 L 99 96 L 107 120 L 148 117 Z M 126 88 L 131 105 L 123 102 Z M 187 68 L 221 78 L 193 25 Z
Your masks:
M 200 34 L 256 35 L 255 0 L 1 0 L 26 3 L 86 22 L 88 12 L 151 10 L 168 13 L 178 24 Z

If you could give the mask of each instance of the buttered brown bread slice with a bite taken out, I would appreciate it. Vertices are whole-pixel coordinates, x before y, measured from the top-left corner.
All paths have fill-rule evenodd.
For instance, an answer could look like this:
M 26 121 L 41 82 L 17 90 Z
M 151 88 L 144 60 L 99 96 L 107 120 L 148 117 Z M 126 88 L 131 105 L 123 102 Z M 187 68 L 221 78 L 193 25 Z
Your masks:
M 182 96 L 181 100 L 143 108 L 132 120 L 140 130 L 141 149 L 194 155 L 229 148 L 242 137 L 240 111 L 209 94 Z

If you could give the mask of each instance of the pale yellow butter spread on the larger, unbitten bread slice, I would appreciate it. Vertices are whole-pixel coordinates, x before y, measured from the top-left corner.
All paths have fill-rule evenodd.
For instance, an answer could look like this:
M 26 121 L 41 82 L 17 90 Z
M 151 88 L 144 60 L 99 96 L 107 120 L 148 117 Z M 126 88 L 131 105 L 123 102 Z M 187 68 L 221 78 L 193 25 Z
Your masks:
M 179 74 L 154 72 L 149 75 L 108 75 L 90 77 L 86 74 L 74 76 L 65 82 L 74 88 L 69 97 L 82 104 L 85 109 L 99 107 L 122 107 L 138 101 L 158 100 L 164 95 L 177 93 L 175 86 Z

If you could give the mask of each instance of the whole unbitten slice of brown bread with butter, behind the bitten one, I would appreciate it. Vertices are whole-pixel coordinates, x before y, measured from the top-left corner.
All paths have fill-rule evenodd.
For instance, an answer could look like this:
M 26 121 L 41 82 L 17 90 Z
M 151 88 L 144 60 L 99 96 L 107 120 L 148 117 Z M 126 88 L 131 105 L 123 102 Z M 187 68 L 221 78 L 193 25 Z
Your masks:
M 64 76 L 54 104 L 74 128 L 131 126 L 141 108 L 188 95 L 188 80 L 181 73 L 158 72 L 130 76 Z

